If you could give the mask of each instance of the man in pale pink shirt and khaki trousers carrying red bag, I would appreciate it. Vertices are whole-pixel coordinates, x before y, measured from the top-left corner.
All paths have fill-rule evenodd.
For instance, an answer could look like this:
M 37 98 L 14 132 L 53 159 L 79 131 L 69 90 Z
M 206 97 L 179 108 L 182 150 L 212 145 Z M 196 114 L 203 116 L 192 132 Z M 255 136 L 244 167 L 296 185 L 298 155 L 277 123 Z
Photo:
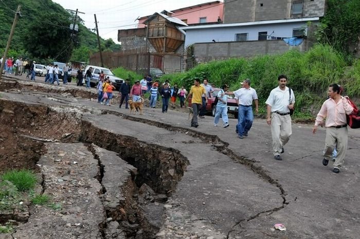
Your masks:
M 333 164 L 333 172 L 339 173 L 344 163 L 346 149 L 348 147 L 348 128 L 346 115 L 350 115 L 354 108 L 348 103 L 348 100 L 340 95 L 340 86 L 331 84 L 328 90 L 329 99 L 321 106 L 317 114 L 313 134 L 317 131 L 317 126 L 323 125 L 323 119 L 326 118 L 326 138 L 325 150 L 323 153 L 322 165 L 327 166 L 329 159 L 332 158 L 332 152 L 335 145 L 337 156 Z

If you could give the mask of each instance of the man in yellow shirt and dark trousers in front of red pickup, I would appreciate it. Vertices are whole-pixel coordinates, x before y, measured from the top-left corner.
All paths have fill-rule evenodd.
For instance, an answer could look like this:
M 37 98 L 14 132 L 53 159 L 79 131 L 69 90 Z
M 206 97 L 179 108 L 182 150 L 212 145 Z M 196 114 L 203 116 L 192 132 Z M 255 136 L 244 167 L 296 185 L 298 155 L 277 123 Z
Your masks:
M 197 115 L 200 112 L 200 108 L 202 106 L 203 100 L 202 95 L 205 94 L 205 104 L 207 104 L 207 95 L 205 88 L 200 85 L 200 80 L 195 79 L 194 85 L 191 86 L 190 93 L 188 97 L 192 97 L 191 99 L 191 106 L 192 106 L 192 120 L 191 120 L 191 127 L 197 127 L 199 124 L 197 123 Z

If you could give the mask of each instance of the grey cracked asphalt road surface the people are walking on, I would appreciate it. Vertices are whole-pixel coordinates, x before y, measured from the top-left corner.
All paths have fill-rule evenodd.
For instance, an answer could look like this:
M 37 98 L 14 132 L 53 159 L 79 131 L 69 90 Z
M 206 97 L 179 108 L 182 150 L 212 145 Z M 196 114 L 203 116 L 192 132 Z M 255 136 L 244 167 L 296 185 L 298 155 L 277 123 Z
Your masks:
M 31 94 L 2 95 L 39 103 Z M 128 110 L 86 99 L 66 103 L 47 98 L 40 103 L 106 113 L 92 116 L 99 127 L 111 125 L 113 133 L 177 148 L 189 159 L 190 165 L 169 199 L 158 238 L 178 238 L 166 233 L 182 227 L 178 230 L 206 229 L 204 235 L 212 238 L 359 238 L 357 130 L 349 130 L 344 168 L 334 174 L 331 163 L 328 167 L 321 164 L 325 129 L 312 135 L 312 125 L 293 124 L 283 160 L 276 161 L 271 153 L 271 130 L 261 119 L 255 120 L 249 137 L 239 139 L 234 132 L 235 119 L 230 119 L 230 127 L 222 128 L 213 127 L 213 118 L 207 116 L 195 129 L 186 113 L 171 110 L 162 114 L 160 109 L 146 108 L 143 116 L 130 116 Z M 226 145 L 214 149 L 214 137 Z M 191 140 L 193 143 L 182 143 Z M 287 230 L 273 231 L 276 223 Z

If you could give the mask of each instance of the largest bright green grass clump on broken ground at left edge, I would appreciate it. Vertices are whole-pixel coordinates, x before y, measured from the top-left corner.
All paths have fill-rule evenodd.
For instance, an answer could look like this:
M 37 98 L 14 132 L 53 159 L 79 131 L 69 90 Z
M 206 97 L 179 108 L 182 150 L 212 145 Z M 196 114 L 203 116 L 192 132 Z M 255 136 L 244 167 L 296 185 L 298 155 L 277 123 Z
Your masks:
M 19 191 L 28 191 L 35 187 L 37 177 L 30 170 L 10 170 L 2 175 L 2 180 L 10 181 Z

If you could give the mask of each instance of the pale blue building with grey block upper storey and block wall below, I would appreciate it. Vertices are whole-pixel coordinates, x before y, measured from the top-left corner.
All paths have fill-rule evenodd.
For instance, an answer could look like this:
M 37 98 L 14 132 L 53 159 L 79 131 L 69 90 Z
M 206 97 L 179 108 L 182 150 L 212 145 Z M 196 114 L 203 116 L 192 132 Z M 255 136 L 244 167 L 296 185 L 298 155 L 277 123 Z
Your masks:
M 282 53 L 282 39 L 306 38 L 325 14 L 326 0 L 225 0 L 222 24 L 186 26 L 185 45 L 200 61 Z M 297 44 L 301 43 L 298 41 Z M 308 42 L 299 46 L 307 50 Z

